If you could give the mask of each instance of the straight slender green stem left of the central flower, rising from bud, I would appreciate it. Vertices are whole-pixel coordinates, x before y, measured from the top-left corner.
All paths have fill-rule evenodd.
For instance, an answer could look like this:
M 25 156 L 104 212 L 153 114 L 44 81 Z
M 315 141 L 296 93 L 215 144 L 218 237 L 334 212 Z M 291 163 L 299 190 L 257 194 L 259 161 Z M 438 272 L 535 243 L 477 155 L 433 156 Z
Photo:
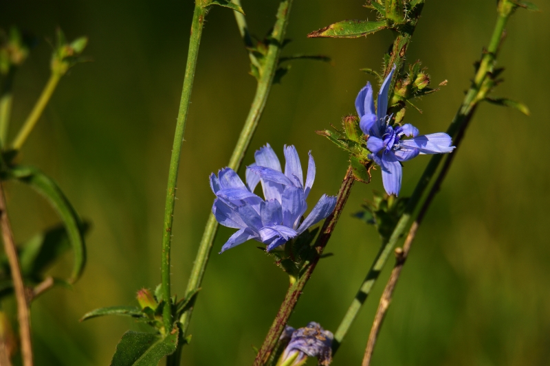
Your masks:
M 166 188 L 166 205 L 164 206 L 164 225 L 162 230 L 162 297 L 167 304 L 170 304 L 170 244 L 172 243 L 172 225 L 174 220 L 175 195 L 177 190 L 177 172 L 179 169 L 179 158 L 181 155 L 181 146 L 184 142 L 184 133 L 189 111 L 189 102 L 193 80 L 195 79 L 195 68 L 197 67 L 197 58 L 199 56 L 199 45 L 204 25 L 204 16 L 206 9 L 198 3 L 195 5 L 193 19 L 191 24 L 191 36 L 189 39 L 189 50 L 187 54 L 187 63 L 185 68 L 184 87 L 181 91 L 181 100 L 179 101 L 179 111 L 177 113 L 176 130 L 174 134 L 174 143 L 172 146 L 172 156 L 170 157 L 170 168 L 168 170 L 168 187 Z M 164 306 L 162 317 L 166 332 L 172 329 L 172 309 L 171 306 Z

